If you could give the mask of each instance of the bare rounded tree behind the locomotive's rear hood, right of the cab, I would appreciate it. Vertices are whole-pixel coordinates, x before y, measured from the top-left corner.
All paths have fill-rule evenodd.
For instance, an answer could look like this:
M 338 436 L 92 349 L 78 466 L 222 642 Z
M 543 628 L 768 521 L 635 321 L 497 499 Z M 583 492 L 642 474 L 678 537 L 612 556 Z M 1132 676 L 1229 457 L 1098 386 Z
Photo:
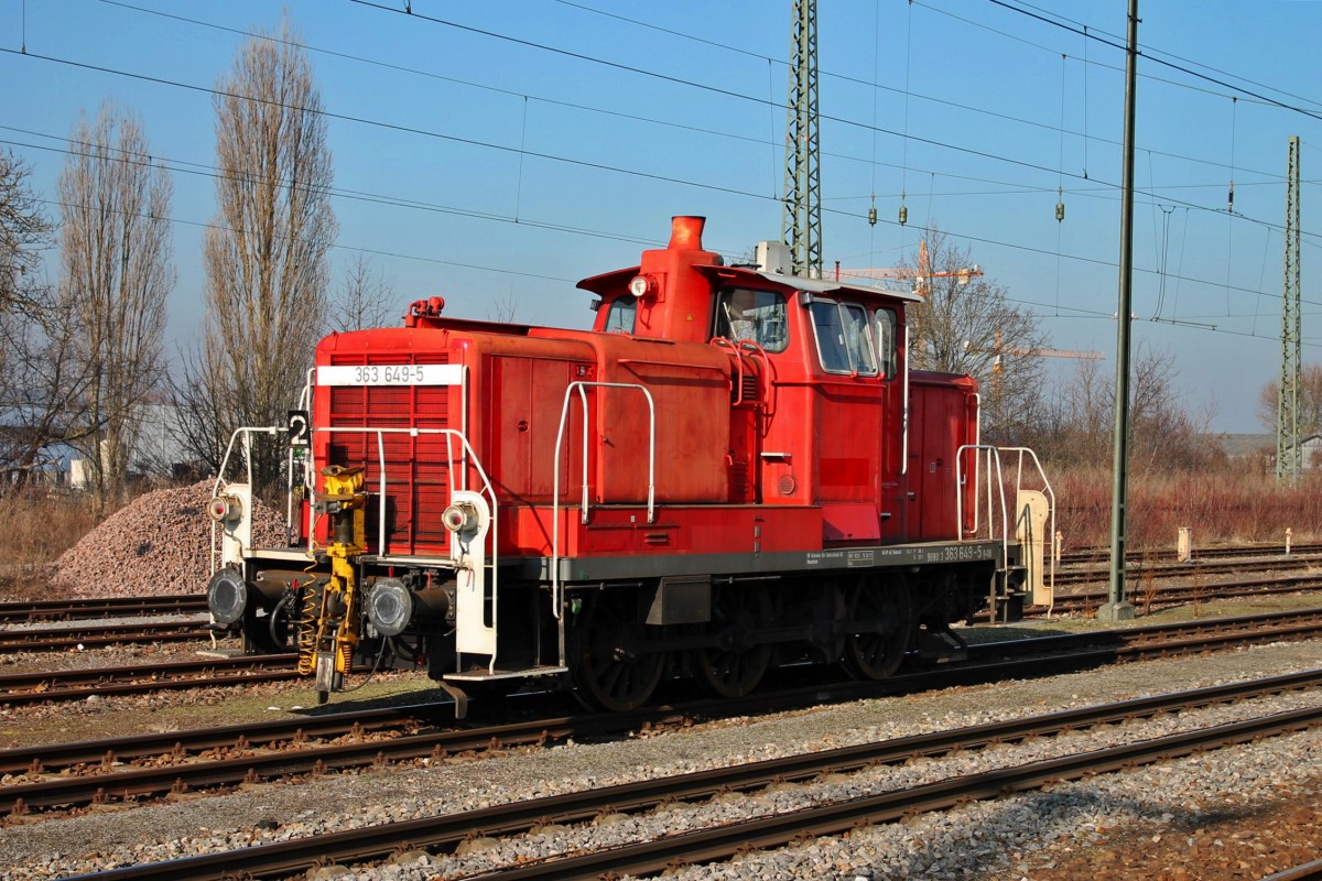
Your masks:
M 966 248 L 939 230 L 925 236 L 925 296 L 910 306 L 912 365 L 920 370 L 970 374 L 982 388 L 984 433 L 993 442 L 1019 439 L 1040 405 L 1044 337 L 1036 317 L 1009 301 L 1007 291 L 961 269 L 973 265 Z

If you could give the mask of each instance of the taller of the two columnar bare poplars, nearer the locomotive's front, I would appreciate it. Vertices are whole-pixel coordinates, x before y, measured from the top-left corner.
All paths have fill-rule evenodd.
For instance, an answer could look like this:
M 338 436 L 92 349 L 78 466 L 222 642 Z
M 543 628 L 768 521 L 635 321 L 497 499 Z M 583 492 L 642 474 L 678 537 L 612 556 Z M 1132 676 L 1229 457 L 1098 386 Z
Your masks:
M 312 67 L 288 16 L 258 33 L 217 83 L 218 217 L 206 230 L 205 398 L 217 432 L 283 424 L 327 320 L 327 251 L 336 222 L 327 123 Z M 259 449 L 271 486 L 280 450 Z

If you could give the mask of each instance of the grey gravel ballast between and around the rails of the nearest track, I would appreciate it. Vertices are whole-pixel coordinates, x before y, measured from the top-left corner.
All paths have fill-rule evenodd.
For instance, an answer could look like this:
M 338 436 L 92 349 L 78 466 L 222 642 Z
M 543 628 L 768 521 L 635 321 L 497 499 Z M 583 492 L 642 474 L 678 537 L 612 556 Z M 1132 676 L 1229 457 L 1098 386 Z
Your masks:
M 1142 662 L 1084 674 L 869 700 L 756 720 L 724 720 L 682 732 L 608 744 L 570 744 L 527 754 L 387 769 L 303 785 L 262 785 L 225 796 L 46 819 L 0 829 L 4 878 L 28 881 L 165 860 L 353 826 L 473 810 L 505 800 L 604 787 L 662 774 L 734 765 L 793 753 L 900 737 L 928 730 L 1034 716 L 1224 682 L 1309 670 L 1319 643 L 1273 645 L 1186 659 Z M 793 810 L 824 798 L 887 791 L 992 767 L 1039 761 L 1064 752 L 1100 749 L 1194 726 L 1322 704 L 1301 692 L 1194 713 L 1104 726 L 1062 738 L 920 759 L 751 796 L 642 814 L 432 856 L 414 864 L 358 869 L 358 878 L 455 878 L 500 863 L 527 861 L 564 848 L 600 848 L 639 836 L 701 828 L 735 818 Z M 755 853 L 730 864 L 693 866 L 677 878 L 1067 878 L 1080 865 L 1092 877 L 1133 877 L 1134 859 L 1173 864 L 1206 851 L 1186 874 L 1154 878 L 1260 877 L 1264 863 L 1286 868 L 1310 847 L 1319 786 L 1322 734 L 1306 732 L 1216 750 L 960 807 L 906 823 L 855 831 L 796 848 Z M 1285 806 L 1289 816 L 1281 812 Z M 1311 819 L 1309 819 L 1311 816 Z M 1228 819 L 1260 819 L 1256 837 Z M 1310 826 L 1300 827 L 1301 818 Z M 1223 826 L 1218 826 L 1218 824 Z M 1274 824 L 1274 826 L 1273 826 Z M 274 828 L 266 828 L 274 827 Z M 1239 835 L 1240 837 L 1235 837 Z M 1311 841 L 1317 852 L 1315 833 Z M 1247 836 L 1247 837 L 1245 837 Z M 1220 844 L 1216 844 L 1220 841 Z M 74 844 L 78 843 L 78 844 Z M 1241 843 L 1243 847 L 1237 847 Z M 1204 847 L 1206 845 L 1206 847 Z M 1259 848 L 1259 849 L 1255 849 Z M 1169 853 L 1165 851 L 1169 848 Z M 1276 848 L 1273 851 L 1273 848 Z M 1163 856 L 1165 853 L 1165 856 Z M 1297 855 L 1302 861 L 1303 851 Z M 1224 859 L 1222 859 L 1224 856 Z M 1255 863 L 1256 860 L 1256 863 Z M 1080 863 L 1083 861 L 1083 863 Z M 1215 865 L 1214 865 L 1215 863 Z M 1235 865 L 1243 872 L 1233 874 Z M 1162 864 L 1157 865 L 1161 869 Z M 1274 869 L 1272 869 L 1274 870 Z M 1109 874 L 1108 874 L 1109 873 Z

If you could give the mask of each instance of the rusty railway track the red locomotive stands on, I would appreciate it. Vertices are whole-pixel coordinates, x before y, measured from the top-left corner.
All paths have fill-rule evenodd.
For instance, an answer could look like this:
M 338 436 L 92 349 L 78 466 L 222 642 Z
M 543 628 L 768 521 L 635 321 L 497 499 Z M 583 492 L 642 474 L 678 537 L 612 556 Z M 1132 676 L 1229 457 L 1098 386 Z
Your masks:
M 0 753 L 0 814 L 124 803 L 197 789 L 222 789 L 299 775 L 320 775 L 452 753 L 543 745 L 613 736 L 695 719 L 765 713 L 822 701 L 875 697 L 1081 670 L 1117 660 L 1208 651 L 1245 642 L 1322 633 L 1322 610 L 1211 619 L 1105 634 L 1046 637 L 970 647 L 969 662 L 896 676 L 883 683 L 814 684 L 742 700 L 686 701 L 636 713 L 534 717 L 522 722 L 457 728 L 444 704 L 423 704 L 215 729 L 56 744 Z M 1284 689 L 1322 684 L 1315 671 Z M 1228 687 L 1233 688 L 1233 687 Z M 1264 686 L 1266 688 L 1266 686 Z M 1211 691 L 1207 692 L 1212 693 Z M 1231 691 L 1225 692 L 1232 693 Z M 534 703 L 529 697 L 527 703 Z M 554 701 L 550 704 L 554 707 Z M 538 704 L 546 712 L 545 704 Z M 530 709 L 530 708 L 529 708 Z

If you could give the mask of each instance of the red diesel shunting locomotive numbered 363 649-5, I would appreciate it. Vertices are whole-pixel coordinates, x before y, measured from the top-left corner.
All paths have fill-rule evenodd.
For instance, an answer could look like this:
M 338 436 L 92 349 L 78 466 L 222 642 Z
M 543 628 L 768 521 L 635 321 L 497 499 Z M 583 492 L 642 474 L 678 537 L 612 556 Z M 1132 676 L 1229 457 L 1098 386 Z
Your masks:
M 320 700 L 360 663 L 424 666 L 460 713 L 531 679 L 621 711 L 664 676 L 882 679 L 1043 601 L 1050 487 L 980 445 L 972 378 L 910 370 L 917 297 L 793 276 L 780 243 L 724 265 L 702 227 L 580 281 L 592 330 L 431 297 L 323 339 L 303 408 L 217 481 L 215 622 L 296 650 Z M 253 547 L 229 462 L 284 432 L 291 542 Z

